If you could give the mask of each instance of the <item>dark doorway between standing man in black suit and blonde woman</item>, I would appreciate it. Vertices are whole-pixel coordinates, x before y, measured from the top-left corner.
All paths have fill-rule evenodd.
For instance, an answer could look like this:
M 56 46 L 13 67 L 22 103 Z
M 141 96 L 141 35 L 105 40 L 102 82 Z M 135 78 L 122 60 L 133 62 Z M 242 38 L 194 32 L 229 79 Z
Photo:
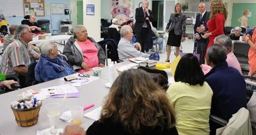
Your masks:
M 157 30 L 164 30 L 164 1 L 153 0 L 152 1 L 152 14 L 154 21 L 152 22 L 153 27 Z

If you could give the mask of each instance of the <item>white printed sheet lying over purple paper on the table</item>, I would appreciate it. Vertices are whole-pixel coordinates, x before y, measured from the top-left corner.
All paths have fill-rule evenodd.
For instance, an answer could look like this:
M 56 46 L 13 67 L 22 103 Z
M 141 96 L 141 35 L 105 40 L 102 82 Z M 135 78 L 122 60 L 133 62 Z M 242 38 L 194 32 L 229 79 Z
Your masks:
M 78 90 L 74 86 L 70 86 L 68 84 L 60 85 L 60 86 L 52 86 L 48 88 L 40 89 L 44 92 L 45 95 L 59 95 L 59 94 L 69 94 L 69 93 L 77 93 Z

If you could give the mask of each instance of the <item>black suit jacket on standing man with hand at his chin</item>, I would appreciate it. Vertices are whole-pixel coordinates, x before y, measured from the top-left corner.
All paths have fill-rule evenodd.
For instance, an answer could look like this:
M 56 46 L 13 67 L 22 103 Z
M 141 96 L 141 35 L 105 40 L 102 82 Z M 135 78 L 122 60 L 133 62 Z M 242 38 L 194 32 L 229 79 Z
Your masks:
M 149 21 L 153 22 L 154 18 L 152 16 L 152 11 L 148 10 L 148 12 L 149 12 L 150 15 L 148 16 L 146 14 L 146 17 L 149 17 Z M 148 33 L 151 32 L 151 26 L 149 24 L 149 21 L 146 20 L 146 17 L 144 17 L 144 11 L 143 11 L 142 7 L 136 8 L 136 11 L 135 11 L 136 22 L 135 22 L 135 25 L 134 25 L 134 31 L 135 31 L 136 34 L 139 34 L 141 32 L 144 22 L 146 22 L 147 25 L 148 25 Z

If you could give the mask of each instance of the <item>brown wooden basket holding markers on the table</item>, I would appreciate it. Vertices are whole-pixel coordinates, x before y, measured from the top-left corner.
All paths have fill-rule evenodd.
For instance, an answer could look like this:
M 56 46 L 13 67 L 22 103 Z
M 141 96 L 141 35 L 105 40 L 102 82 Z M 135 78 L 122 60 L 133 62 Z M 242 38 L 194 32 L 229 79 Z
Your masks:
M 21 102 L 21 100 L 18 102 Z M 41 106 L 42 103 L 30 109 L 15 109 L 12 106 L 11 108 L 17 124 L 21 127 L 29 127 L 37 123 Z

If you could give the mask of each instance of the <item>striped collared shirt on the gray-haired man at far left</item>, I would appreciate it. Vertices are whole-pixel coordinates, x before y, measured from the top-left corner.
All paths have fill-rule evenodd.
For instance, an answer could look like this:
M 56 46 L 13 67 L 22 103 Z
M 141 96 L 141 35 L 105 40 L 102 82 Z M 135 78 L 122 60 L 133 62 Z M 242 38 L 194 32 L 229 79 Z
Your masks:
M 35 58 L 37 53 L 24 41 L 15 39 L 4 50 L 0 71 L 4 74 L 16 74 L 14 67 L 24 65 L 28 68 L 30 59 Z

